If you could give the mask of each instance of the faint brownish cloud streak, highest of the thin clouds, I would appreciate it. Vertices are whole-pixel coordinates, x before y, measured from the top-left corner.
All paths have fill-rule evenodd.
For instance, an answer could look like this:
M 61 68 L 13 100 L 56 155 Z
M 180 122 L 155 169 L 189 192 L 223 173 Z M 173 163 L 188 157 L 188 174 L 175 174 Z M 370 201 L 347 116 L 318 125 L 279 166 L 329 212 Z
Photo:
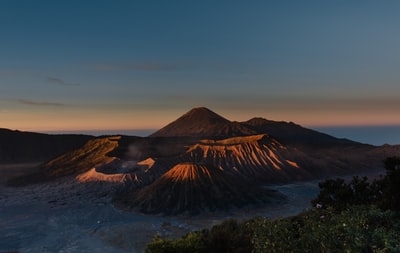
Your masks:
M 100 71 L 173 71 L 179 69 L 177 65 L 161 63 L 96 64 L 94 67 Z

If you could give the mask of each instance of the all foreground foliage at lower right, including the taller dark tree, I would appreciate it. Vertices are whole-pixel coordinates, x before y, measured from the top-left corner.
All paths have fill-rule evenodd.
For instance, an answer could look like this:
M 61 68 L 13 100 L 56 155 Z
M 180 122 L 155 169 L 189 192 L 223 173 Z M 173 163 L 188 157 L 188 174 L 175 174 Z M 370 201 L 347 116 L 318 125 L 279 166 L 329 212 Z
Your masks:
M 227 220 L 177 240 L 156 236 L 146 253 L 386 253 L 400 252 L 400 158 L 385 161 L 387 175 L 320 183 L 319 208 L 294 217 Z M 321 208 L 322 205 L 322 208 Z

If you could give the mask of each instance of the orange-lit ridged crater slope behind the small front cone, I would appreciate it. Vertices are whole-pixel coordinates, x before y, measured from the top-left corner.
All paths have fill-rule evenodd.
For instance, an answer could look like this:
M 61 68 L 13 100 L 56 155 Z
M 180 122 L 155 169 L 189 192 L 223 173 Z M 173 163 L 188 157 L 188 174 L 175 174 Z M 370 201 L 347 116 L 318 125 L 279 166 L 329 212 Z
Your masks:
M 190 147 L 187 154 L 196 162 L 254 180 L 301 180 L 311 176 L 301 167 L 307 159 L 305 154 L 265 134 L 203 140 Z

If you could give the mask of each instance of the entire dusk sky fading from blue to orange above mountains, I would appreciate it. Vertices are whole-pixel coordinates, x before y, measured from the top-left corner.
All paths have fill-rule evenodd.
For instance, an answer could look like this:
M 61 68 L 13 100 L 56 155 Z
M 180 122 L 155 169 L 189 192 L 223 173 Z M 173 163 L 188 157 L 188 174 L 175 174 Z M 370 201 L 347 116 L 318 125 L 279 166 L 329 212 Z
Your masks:
M 0 127 L 400 125 L 400 1 L 0 2 Z

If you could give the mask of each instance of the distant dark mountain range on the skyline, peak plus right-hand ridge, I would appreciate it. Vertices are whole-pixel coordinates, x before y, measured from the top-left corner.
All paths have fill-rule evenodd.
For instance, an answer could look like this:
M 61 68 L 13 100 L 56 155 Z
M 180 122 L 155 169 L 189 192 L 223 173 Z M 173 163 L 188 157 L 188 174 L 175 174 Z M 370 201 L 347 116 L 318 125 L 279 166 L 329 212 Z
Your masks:
M 268 134 L 284 144 L 332 145 L 355 144 L 296 125 L 293 122 L 252 118 L 245 122 L 229 121 L 205 108 L 193 108 L 150 137 L 199 137 L 224 139 L 237 136 Z

